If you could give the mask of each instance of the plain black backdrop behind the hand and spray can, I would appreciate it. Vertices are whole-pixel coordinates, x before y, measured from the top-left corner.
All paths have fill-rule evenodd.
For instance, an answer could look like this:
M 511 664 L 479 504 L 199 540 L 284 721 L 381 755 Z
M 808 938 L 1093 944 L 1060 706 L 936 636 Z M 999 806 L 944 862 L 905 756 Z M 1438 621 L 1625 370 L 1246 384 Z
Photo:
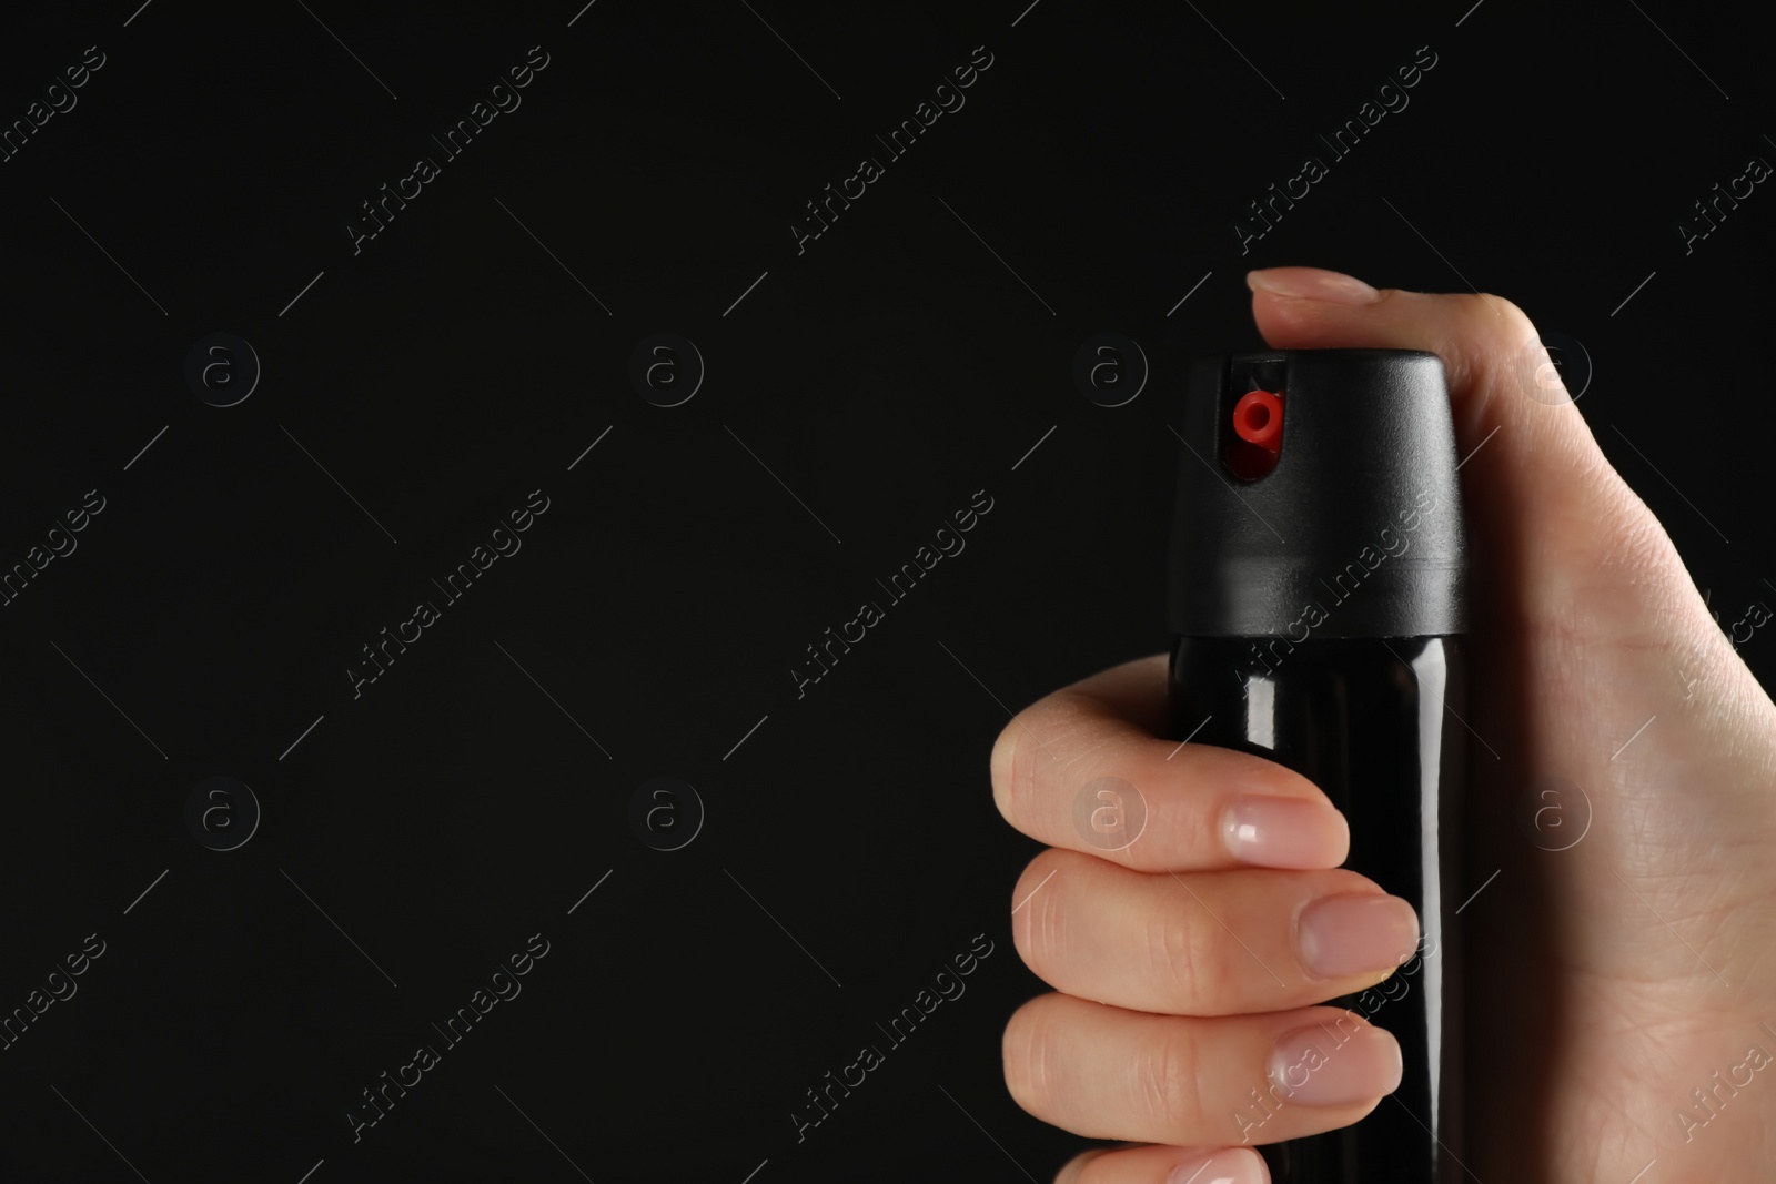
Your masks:
M 1675 229 L 1776 160 L 1760 44 L 1469 4 L 14 21 L 7 122 L 105 66 L 0 163 L 0 566 L 105 509 L 0 609 L 0 1008 L 107 951 L 0 1053 L 0 1179 L 1046 1180 L 1083 1141 L 1000 1076 L 1043 987 L 987 751 L 1163 648 L 1165 424 L 1190 357 L 1259 344 L 1247 268 L 1510 296 L 1582 343 L 1581 410 L 1723 620 L 1776 595 L 1776 197 L 1687 256 Z M 522 107 L 353 256 L 359 204 L 531 46 Z M 966 105 L 797 254 L 975 46 Z M 1410 105 L 1241 254 L 1247 202 L 1419 46 Z M 1099 330 L 1151 362 L 1124 407 L 1071 380 Z M 263 364 L 236 407 L 185 382 L 211 332 Z M 627 378 L 654 332 L 707 362 L 680 407 Z M 353 699 L 359 648 L 538 488 L 522 550 Z M 966 550 L 797 698 L 979 490 Z M 249 845 L 186 829 L 210 776 L 252 788 Z M 655 776 L 707 809 L 675 852 L 629 824 Z M 353 1143 L 343 1109 L 538 932 L 522 994 Z M 966 994 L 797 1143 L 805 1090 L 977 934 Z

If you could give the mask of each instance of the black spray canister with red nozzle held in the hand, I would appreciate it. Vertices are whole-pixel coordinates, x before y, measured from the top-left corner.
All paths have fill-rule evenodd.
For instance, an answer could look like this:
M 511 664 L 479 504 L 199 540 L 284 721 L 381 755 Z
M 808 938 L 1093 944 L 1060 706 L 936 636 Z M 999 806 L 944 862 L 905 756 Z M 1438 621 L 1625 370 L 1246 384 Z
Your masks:
M 1172 738 L 1325 790 L 1350 822 L 1344 866 L 1408 900 L 1423 934 L 1387 982 L 1328 1001 L 1399 1040 L 1399 1088 L 1352 1127 L 1261 1152 L 1275 1184 L 1462 1179 L 1467 534 L 1442 362 L 1208 359 L 1179 435 Z M 1348 1026 L 1327 1026 L 1328 1060 Z M 1252 1085 L 1227 1099 L 1227 1143 L 1257 1143 L 1289 1104 L 1289 1081 Z

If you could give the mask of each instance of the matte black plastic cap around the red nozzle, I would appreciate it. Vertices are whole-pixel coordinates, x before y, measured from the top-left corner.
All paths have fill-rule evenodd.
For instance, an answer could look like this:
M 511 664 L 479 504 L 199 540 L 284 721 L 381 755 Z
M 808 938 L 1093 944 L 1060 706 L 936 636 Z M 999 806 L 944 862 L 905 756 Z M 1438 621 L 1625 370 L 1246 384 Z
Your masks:
M 1233 424 L 1249 391 L 1282 399 L 1275 458 L 1252 479 L 1236 476 L 1252 446 Z M 1176 428 L 1174 634 L 1298 643 L 1467 632 L 1455 422 L 1435 353 L 1204 359 Z

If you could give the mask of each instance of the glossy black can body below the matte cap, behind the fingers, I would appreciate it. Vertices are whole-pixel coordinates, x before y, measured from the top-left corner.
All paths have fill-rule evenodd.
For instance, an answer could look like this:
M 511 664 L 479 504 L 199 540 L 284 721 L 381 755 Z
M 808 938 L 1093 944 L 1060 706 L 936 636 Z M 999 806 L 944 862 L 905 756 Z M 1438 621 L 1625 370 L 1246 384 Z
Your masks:
M 1213 1141 L 1257 1145 L 1273 1184 L 1465 1177 L 1455 916 L 1465 692 L 1460 637 L 1179 637 L 1172 651 L 1174 738 L 1193 733 L 1193 744 L 1254 753 L 1311 779 L 1350 822 L 1344 866 L 1419 914 L 1415 957 L 1376 987 L 1328 1001 L 1399 1040 L 1405 1070 L 1391 1097 L 1352 1127 L 1284 1143 L 1268 1140 L 1291 1081 L 1254 1074 L 1254 1092 L 1227 1099 L 1225 1140 Z M 1336 1060 L 1337 1046 L 1328 1024 L 1321 1054 Z

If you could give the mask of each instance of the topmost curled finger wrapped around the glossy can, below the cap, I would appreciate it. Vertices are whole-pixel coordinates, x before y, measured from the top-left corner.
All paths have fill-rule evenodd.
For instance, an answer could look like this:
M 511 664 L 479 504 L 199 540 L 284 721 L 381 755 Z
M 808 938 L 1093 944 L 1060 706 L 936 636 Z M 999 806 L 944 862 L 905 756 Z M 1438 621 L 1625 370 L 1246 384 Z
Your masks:
M 1154 735 L 1167 655 L 1092 675 L 1018 712 L 993 744 L 993 801 L 1050 847 L 1140 872 L 1334 868 L 1344 815 L 1307 777 L 1247 753 Z

